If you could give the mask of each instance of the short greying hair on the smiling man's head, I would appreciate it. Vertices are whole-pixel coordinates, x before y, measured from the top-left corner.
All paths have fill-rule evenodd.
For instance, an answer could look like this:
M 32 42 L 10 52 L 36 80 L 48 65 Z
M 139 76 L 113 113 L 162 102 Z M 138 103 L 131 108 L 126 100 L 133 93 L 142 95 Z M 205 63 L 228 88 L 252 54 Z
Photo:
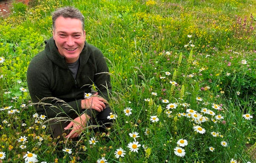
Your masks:
M 82 29 L 85 29 L 85 17 L 75 7 L 70 7 L 70 6 L 62 7 L 52 13 L 52 28 L 53 28 L 53 30 L 55 29 L 55 21 L 58 17 L 79 19 L 82 23 Z

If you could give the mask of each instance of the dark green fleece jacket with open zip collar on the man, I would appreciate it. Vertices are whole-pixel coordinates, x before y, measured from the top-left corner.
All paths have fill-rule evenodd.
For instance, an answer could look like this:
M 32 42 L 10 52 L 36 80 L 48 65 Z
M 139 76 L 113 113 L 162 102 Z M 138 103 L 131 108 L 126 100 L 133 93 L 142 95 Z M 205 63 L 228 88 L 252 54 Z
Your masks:
M 37 113 L 46 115 L 47 118 L 75 118 L 74 114 L 82 114 L 83 111 L 89 116 L 95 114 L 97 111 L 94 109 L 81 109 L 81 99 L 84 93 L 91 93 L 93 84 L 99 95 L 106 100 L 109 100 L 111 93 L 109 69 L 99 49 L 85 43 L 80 54 L 80 67 L 74 79 L 65 58 L 58 53 L 53 38 L 46 41 L 45 50 L 29 63 L 27 84 L 32 102 L 38 103 L 35 105 Z

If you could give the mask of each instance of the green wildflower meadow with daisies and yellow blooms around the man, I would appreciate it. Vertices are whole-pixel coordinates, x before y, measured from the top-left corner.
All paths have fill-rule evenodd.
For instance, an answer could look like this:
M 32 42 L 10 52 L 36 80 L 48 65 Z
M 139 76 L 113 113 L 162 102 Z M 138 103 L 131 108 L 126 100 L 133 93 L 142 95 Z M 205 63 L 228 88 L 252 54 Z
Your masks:
M 256 162 L 256 1 L 30 4 L 0 18 L 0 162 Z M 113 87 L 114 124 L 77 141 L 47 134 L 26 82 L 63 6 L 85 16 Z

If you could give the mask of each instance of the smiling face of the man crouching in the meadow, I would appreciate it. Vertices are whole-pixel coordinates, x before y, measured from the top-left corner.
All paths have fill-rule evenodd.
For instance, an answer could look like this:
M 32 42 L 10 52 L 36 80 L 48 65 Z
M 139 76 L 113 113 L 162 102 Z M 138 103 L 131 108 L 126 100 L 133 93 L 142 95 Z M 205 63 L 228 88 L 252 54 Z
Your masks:
M 74 63 L 79 58 L 85 45 L 85 30 L 79 19 L 58 17 L 53 29 L 58 52 L 66 59 L 67 63 Z

